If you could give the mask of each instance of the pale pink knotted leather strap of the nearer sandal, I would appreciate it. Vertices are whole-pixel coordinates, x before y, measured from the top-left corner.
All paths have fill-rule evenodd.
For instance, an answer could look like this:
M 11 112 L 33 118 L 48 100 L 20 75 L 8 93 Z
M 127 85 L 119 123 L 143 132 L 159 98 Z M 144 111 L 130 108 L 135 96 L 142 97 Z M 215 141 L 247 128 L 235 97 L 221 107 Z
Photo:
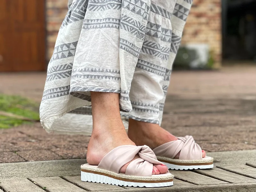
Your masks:
M 135 155 L 139 155 L 132 161 Z M 132 161 L 126 168 L 126 175 L 151 176 L 153 164 L 163 164 L 148 146 L 122 145 L 112 149 L 100 161 L 98 168 L 119 173 L 120 169 Z

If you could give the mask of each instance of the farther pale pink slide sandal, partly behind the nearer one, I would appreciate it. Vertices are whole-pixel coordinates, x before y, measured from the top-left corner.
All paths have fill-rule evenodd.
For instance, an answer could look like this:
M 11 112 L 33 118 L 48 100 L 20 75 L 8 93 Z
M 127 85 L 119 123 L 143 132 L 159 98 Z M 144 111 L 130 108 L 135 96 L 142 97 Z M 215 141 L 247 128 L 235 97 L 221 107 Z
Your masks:
M 202 149 L 192 136 L 177 137 L 178 140 L 164 143 L 153 149 L 159 161 L 168 169 L 209 169 L 213 168 L 212 157 L 202 157 Z M 174 157 L 180 152 L 179 159 Z

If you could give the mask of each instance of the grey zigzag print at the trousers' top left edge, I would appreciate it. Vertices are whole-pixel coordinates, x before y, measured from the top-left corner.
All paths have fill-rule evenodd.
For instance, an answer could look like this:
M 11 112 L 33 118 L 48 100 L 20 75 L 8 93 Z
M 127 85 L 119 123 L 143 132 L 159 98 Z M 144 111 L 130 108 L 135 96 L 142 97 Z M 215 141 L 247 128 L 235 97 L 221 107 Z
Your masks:
M 83 20 L 87 9 L 88 0 L 73 0 L 73 3 L 68 7 L 68 13 L 62 22 L 60 28 L 73 23 L 75 21 Z

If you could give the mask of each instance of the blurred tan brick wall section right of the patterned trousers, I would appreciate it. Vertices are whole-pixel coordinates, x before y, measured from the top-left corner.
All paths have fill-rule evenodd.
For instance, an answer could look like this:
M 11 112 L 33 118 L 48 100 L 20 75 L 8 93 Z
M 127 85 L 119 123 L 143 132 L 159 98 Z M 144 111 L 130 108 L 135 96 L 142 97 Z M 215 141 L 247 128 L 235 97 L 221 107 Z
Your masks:
M 181 44 L 208 44 L 218 68 L 222 58 L 221 0 L 193 0 Z

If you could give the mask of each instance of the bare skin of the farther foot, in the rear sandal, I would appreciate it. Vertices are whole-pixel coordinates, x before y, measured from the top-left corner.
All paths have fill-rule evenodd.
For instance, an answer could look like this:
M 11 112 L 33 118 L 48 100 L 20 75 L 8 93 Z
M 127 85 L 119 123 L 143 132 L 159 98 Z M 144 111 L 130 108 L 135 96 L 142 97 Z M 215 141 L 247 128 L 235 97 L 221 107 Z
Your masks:
M 142 121 L 136 121 L 129 119 L 128 137 L 138 146 L 147 145 L 151 149 L 154 149 L 164 143 L 178 140 L 174 135 L 164 130 L 158 124 L 146 123 Z M 179 158 L 178 153 L 174 158 Z M 202 150 L 202 157 L 204 158 L 206 153 Z

